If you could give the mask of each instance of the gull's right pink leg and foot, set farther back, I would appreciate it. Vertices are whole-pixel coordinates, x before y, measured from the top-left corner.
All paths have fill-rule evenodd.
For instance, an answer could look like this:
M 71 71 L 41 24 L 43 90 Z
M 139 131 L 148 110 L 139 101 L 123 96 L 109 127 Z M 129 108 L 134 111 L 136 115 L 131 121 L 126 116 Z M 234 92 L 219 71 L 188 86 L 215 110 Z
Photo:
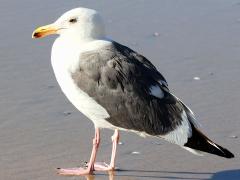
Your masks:
M 115 167 L 115 159 L 116 159 L 116 153 L 117 153 L 117 145 L 119 141 L 119 131 L 116 129 L 113 136 L 112 136 L 112 155 L 111 155 L 111 161 L 108 165 L 105 162 L 97 162 L 94 164 L 94 169 L 97 171 L 110 171 L 114 170 Z

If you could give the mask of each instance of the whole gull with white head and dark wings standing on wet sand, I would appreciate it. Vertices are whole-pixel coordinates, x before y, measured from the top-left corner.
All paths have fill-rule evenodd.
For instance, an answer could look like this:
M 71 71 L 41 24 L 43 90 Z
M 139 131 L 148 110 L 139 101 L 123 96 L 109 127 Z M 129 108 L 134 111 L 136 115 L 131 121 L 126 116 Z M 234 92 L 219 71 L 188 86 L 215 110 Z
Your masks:
M 58 34 L 51 53 L 57 82 L 69 101 L 95 127 L 85 167 L 58 168 L 61 175 L 116 170 L 119 131 L 164 139 L 196 154 L 233 158 L 199 130 L 193 112 L 169 90 L 157 68 L 136 51 L 109 39 L 100 14 L 75 8 L 37 28 L 33 38 Z M 114 130 L 110 163 L 95 162 L 100 130 Z

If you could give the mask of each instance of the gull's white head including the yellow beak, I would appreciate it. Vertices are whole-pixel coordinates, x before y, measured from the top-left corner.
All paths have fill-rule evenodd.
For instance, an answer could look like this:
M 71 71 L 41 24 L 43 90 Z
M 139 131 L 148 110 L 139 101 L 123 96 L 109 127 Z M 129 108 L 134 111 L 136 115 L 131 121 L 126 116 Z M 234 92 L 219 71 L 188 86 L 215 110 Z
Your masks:
M 76 8 L 64 13 L 54 23 L 37 28 L 32 37 L 41 38 L 59 34 L 69 40 L 101 39 L 105 36 L 104 23 L 97 11 Z

